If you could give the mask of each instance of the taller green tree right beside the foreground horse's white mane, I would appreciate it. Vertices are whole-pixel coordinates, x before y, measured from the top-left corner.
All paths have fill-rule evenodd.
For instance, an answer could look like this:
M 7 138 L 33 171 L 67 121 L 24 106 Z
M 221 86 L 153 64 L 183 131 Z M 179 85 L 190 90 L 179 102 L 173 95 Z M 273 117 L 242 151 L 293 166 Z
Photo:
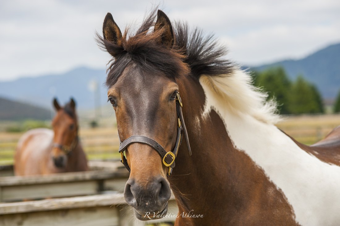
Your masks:
M 262 87 L 269 94 L 268 99 L 276 98 L 278 110 L 281 114 L 289 114 L 289 81 L 285 70 L 282 67 L 270 68 L 263 72 L 255 72 L 254 85 Z

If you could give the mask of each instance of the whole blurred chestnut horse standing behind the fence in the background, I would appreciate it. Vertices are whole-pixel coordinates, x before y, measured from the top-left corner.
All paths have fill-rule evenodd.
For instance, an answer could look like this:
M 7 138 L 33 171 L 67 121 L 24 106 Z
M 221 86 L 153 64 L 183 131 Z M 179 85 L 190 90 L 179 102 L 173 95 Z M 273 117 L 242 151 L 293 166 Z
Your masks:
M 15 175 L 51 174 L 87 170 L 87 159 L 78 139 L 78 119 L 75 102 L 61 107 L 53 100 L 57 111 L 53 131 L 36 128 L 20 138 L 14 159 Z

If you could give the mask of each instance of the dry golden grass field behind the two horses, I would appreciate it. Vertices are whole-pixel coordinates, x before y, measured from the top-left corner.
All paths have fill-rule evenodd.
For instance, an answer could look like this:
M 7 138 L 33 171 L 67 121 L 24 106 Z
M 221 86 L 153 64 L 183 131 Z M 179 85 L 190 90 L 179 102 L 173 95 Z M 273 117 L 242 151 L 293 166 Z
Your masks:
M 277 127 L 297 141 L 312 144 L 325 137 L 340 125 L 340 115 L 291 116 Z M 16 143 L 23 133 L 0 132 L 0 165 L 13 163 Z M 80 138 L 89 159 L 119 158 L 117 128 L 113 125 L 101 128 L 81 126 Z

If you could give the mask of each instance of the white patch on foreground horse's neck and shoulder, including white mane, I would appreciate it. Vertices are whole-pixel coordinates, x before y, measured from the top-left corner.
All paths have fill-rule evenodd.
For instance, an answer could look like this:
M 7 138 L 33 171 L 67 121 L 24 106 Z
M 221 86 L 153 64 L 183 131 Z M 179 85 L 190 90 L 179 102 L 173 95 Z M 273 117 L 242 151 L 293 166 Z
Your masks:
M 225 77 L 202 76 L 203 117 L 214 109 L 235 149 L 247 154 L 287 198 L 301 225 L 339 225 L 340 167 L 302 150 L 274 123 L 273 103 L 250 85 L 242 71 Z M 227 151 L 227 150 L 226 150 Z M 242 167 L 242 166 L 240 166 Z

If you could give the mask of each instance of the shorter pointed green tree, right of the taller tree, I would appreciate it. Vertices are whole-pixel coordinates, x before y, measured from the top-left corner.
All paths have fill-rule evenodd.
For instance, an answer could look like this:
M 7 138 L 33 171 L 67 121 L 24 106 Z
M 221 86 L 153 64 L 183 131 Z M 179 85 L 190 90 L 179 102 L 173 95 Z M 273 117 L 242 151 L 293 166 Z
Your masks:
M 320 94 L 315 86 L 299 75 L 289 93 L 289 111 L 292 114 L 323 112 Z

